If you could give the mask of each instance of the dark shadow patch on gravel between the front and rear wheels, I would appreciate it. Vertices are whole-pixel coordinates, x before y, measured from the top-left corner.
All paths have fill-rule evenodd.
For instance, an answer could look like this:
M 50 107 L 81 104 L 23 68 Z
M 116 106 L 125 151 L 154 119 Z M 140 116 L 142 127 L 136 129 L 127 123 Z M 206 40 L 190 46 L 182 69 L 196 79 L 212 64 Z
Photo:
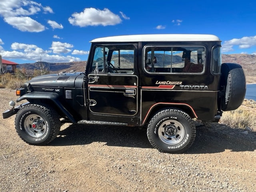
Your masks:
M 50 145 L 70 146 L 105 142 L 107 146 L 152 148 L 145 129 L 128 126 L 71 124 Z

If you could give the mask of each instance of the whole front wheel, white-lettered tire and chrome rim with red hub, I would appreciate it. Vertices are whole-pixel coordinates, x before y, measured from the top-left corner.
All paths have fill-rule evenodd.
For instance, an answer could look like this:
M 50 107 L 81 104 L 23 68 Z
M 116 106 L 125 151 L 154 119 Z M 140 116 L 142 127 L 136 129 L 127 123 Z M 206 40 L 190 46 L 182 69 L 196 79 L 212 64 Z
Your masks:
M 60 118 L 50 106 L 30 104 L 21 108 L 15 118 L 16 132 L 28 144 L 45 145 L 60 131 Z

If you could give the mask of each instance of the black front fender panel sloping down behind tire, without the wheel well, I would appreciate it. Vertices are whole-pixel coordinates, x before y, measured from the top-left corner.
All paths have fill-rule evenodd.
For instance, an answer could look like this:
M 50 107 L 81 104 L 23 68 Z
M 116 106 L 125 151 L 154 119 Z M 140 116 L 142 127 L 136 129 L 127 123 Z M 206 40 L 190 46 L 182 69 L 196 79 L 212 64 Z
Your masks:
M 59 100 L 59 95 L 57 93 L 45 93 L 45 92 L 30 92 L 25 95 L 22 95 L 20 98 L 16 100 L 16 102 L 20 102 L 24 99 L 30 100 L 30 99 L 43 99 L 43 100 L 51 100 L 54 102 L 54 104 L 60 109 L 60 111 L 63 112 L 65 116 L 72 122 L 77 123 L 77 121 L 74 119 L 72 114 L 68 112 L 68 110 L 62 105 L 62 103 Z

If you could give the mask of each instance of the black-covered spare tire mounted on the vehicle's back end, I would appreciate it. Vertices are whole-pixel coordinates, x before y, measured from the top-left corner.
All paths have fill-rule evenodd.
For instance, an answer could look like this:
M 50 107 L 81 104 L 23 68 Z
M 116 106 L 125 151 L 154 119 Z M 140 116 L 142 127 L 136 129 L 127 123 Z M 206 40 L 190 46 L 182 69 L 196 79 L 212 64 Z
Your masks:
M 223 63 L 220 86 L 220 89 L 224 91 L 221 99 L 222 111 L 237 109 L 244 101 L 246 92 L 246 80 L 242 66 L 235 63 Z

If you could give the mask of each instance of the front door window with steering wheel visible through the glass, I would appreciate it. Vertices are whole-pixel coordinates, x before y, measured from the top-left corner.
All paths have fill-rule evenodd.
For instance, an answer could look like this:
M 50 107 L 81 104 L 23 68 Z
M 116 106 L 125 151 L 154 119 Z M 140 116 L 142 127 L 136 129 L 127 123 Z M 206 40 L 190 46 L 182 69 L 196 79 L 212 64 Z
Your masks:
M 94 72 L 97 63 L 99 73 L 132 74 L 134 72 L 134 50 L 133 45 L 97 46 L 90 72 Z

